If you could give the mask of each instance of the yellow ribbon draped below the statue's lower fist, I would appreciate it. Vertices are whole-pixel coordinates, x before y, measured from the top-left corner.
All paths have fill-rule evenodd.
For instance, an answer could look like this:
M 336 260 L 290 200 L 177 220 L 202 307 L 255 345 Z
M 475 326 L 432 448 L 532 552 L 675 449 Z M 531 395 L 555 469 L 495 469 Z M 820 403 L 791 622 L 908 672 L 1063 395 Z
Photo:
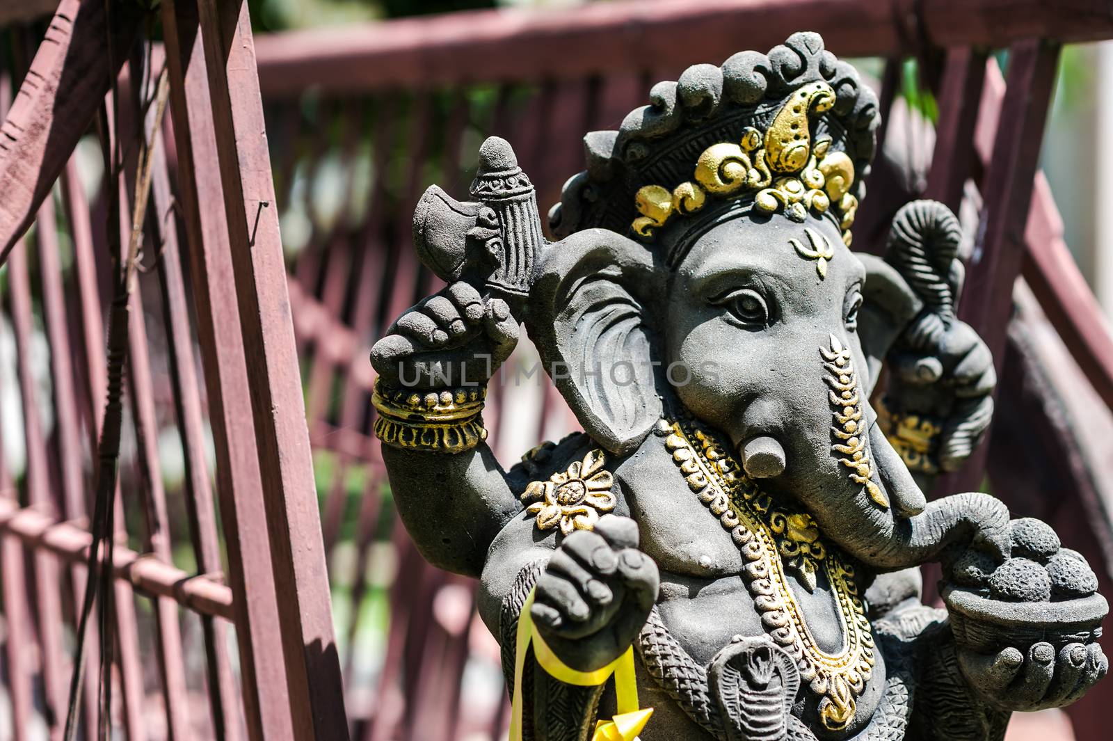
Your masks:
M 652 708 L 638 707 L 638 681 L 633 673 L 633 646 L 626 650 L 621 656 L 602 669 L 592 672 L 581 672 L 572 669 L 556 658 L 541 634 L 533 630 L 533 619 L 530 607 L 533 606 L 533 592 L 525 597 L 522 614 L 518 618 L 518 648 L 514 652 L 514 696 L 510 715 L 510 741 L 522 741 L 522 672 L 525 670 L 525 652 L 533 643 L 533 655 L 538 663 L 553 679 L 565 684 L 578 686 L 597 686 L 614 674 L 614 695 L 618 701 L 618 714 L 609 721 L 595 723 L 595 732 L 591 741 L 634 741 L 646 728 Z

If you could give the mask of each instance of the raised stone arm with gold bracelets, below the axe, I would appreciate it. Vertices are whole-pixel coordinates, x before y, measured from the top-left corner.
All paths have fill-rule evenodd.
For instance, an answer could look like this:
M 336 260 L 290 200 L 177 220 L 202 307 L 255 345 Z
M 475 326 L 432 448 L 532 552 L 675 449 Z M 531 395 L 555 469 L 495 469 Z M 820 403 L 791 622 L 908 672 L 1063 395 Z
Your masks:
M 500 298 L 453 283 L 407 309 L 371 353 L 375 434 L 395 506 L 430 563 L 479 576 L 522 506 L 484 442 L 486 385 L 518 343 Z

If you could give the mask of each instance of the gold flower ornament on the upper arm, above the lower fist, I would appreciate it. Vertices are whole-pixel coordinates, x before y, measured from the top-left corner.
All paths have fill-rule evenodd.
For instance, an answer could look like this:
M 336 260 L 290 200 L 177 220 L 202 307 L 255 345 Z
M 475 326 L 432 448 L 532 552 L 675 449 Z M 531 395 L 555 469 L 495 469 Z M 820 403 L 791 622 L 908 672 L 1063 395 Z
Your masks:
M 592 530 L 600 514 L 614 508 L 611 493 L 614 477 L 604 471 L 607 457 L 599 448 L 590 451 L 583 461 L 573 461 L 567 471 L 556 472 L 549 481 L 530 482 L 522 492 L 523 502 L 532 502 L 526 512 L 536 515 L 538 530 L 554 530 L 571 534 Z

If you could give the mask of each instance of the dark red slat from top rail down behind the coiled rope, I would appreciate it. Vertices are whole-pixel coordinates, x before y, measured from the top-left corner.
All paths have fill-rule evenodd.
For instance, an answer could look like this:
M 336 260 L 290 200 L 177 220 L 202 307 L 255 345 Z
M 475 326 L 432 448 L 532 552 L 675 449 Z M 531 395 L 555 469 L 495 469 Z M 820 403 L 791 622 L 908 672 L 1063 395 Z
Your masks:
M 975 158 L 974 130 L 985 82 L 985 60 L 984 51 L 969 47 L 951 49 L 943 72 L 935 150 L 924 196 L 943 201 L 956 213 Z

